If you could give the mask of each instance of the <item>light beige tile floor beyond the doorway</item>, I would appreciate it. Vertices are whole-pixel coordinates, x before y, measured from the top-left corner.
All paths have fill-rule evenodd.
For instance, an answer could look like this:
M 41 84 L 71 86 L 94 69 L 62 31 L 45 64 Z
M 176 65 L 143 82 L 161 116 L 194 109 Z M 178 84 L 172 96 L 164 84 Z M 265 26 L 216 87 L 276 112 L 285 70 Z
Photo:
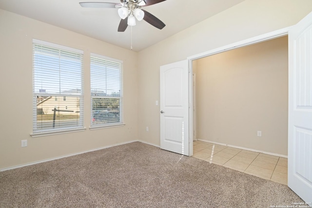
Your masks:
M 203 141 L 193 142 L 193 157 L 287 185 L 287 158 Z

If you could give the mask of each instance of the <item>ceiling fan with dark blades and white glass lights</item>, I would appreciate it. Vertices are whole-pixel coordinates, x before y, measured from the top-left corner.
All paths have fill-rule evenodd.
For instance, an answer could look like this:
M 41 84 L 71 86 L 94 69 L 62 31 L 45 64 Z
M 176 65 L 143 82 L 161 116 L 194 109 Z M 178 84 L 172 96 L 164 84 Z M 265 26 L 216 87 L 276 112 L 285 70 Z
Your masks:
M 118 8 L 118 15 L 121 18 L 118 32 L 124 32 L 128 25 L 136 25 L 136 19 L 144 19 L 158 29 L 166 25 L 151 13 L 141 9 L 141 7 L 153 5 L 165 0 L 119 0 L 120 3 L 111 2 L 80 2 L 80 6 L 88 8 Z

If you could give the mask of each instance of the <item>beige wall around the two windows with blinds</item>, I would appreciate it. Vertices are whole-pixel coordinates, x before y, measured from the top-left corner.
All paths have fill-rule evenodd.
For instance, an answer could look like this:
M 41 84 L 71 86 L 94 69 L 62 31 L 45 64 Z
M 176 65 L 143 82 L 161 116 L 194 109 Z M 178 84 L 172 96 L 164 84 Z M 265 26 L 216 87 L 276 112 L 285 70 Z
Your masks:
M 33 38 L 84 51 L 84 132 L 30 136 Z M 89 129 L 91 52 L 123 60 L 124 127 Z M 0 169 L 138 139 L 136 52 L 0 10 L 0 60 Z

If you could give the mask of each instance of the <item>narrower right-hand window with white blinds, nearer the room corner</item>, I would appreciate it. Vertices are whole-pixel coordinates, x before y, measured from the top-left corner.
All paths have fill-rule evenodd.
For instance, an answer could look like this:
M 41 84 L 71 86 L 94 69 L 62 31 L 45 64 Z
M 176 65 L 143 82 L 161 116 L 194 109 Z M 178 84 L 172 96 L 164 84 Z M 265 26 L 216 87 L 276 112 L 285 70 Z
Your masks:
M 91 127 L 122 124 L 122 61 L 91 54 Z

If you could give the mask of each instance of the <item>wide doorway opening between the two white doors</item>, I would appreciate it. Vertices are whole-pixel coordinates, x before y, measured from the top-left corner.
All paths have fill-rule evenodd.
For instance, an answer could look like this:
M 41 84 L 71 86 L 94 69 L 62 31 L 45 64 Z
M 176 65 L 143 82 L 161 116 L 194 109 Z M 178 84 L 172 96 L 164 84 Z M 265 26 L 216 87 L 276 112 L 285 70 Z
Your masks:
M 204 159 L 206 161 L 217 161 L 215 162 L 216 164 L 222 161 L 221 164 L 218 165 L 225 165 L 227 163 L 225 166 L 228 168 L 231 168 L 230 165 L 231 163 L 233 163 L 234 160 L 230 161 L 230 159 L 233 158 L 235 155 L 236 157 L 234 159 L 240 160 L 243 158 L 240 154 L 243 155 L 244 153 L 251 152 L 256 153 L 257 155 L 254 156 L 252 161 L 249 161 L 251 160 L 250 158 L 243 162 L 238 161 L 242 164 L 242 166 L 240 166 L 240 171 L 244 171 L 244 169 L 247 170 L 248 167 L 250 167 L 250 169 L 248 170 L 257 169 L 257 167 L 254 165 L 261 166 L 259 165 L 260 163 L 258 161 L 263 159 L 261 158 L 262 156 L 271 156 L 272 158 L 269 160 L 271 160 L 270 162 L 273 162 L 275 164 L 272 164 L 270 166 L 270 169 L 274 170 L 277 167 L 278 170 L 282 171 L 286 175 L 286 182 L 277 180 L 275 180 L 275 182 L 280 182 L 287 185 L 286 158 L 288 145 L 288 37 L 287 33 L 282 33 L 278 37 L 276 37 L 275 35 L 271 37 L 272 38 L 262 38 L 263 41 L 251 42 L 249 44 L 241 44 L 240 47 L 228 47 L 227 50 L 219 50 L 218 53 L 215 50 L 207 56 L 199 56 L 197 58 L 193 57 L 193 59 L 191 58 L 192 63 L 190 65 L 193 73 L 192 80 L 194 80 L 194 74 L 196 76 L 196 84 L 194 85 L 194 83 L 192 83 L 192 92 L 193 94 L 195 94 L 192 95 L 192 98 L 195 99 L 192 101 L 192 112 L 194 113 L 194 129 L 192 131 L 194 132 L 193 142 L 195 145 L 200 144 L 201 148 L 203 149 L 201 150 L 201 155 L 198 154 L 198 149 L 196 148 L 193 149 L 193 153 L 195 154 L 195 157 L 207 157 Z M 280 59 L 280 57 L 272 57 L 271 60 L 264 61 L 264 63 L 262 63 L 262 66 L 259 65 L 259 63 L 253 63 L 253 61 L 248 64 L 245 63 L 244 68 L 237 64 L 237 58 L 239 56 L 244 57 L 245 59 L 248 59 L 252 56 L 257 57 L 257 55 L 254 54 L 252 51 L 247 50 L 249 47 L 253 48 L 252 50 L 257 51 L 266 49 L 266 47 L 268 47 L 270 43 L 271 45 L 279 44 L 276 42 L 280 42 L 283 45 L 282 47 L 284 47 L 284 62 L 283 66 L 281 67 L 282 69 L 280 69 L 279 72 L 277 72 L 278 70 L 275 70 L 274 72 L 272 69 L 276 68 L 274 68 L 274 64 L 280 66 L 280 63 L 272 61 L 274 60 L 274 58 Z M 272 67 L 270 65 L 269 67 L 268 65 L 266 65 L 270 63 Z M 258 66 L 256 70 L 254 70 L 255 67 L 253 66 L 253 64 Z M 209 66 L 210 68 L 214 68 L 211 67 L 212 65 L 222 65 L 222 67 L 221 69 L 220 67 L 217 67 L 215 71 L 210 70 L 210 72 L 208 74 L 206 73 L 206 75 L 202 74 L 203 71 L 209 71 Z M 238 67 L 240 69 L 233 69 L 235 67 Z M 261 70 L 262 72 L 264 71 L 264 73 L 261 74 Z M 270 75 L 270 73 L 273 73 L 272 76 L 268 76 Z M 272 85 L 275 81 L 275 86 L 277 87 L 274 87 L 274 85 Z M 283 86 L 281 89 L 279 89 L 281 83 Z M 274 90 L 276 91 L 274 92 Z M 279 96 L 281 95 L 280 93 L 283 94 L 282 97 Z M 275 101 L 279 100 L 278 103 L 276 103 L 275 101 L 273 102 L 273 99 Z M 270 144 L 270 142 L 273 141 L 272 139 L 270 139 L 270 137 L 276 137 L 276 135 L 274 136 L 274 134 L 278 134 L 278 130 L 275 129 L 274 132 L 274 130 L 272 130 L 273 128 L 270 129 L 269 122 L 265 122 L 265 120 L 268 119 L 268 116 L 270 117 L 272 115 L 270 117 L 270 122 L 276 124 L 274 119 L 272 120 L 273 113 L 270 113 L 270 110 L 267 112 L 267 115 L 264 115 L 263 110 L 260 111 L 262 107 L 264 109 L 267 109 L 270 106 L 270 104 L 269 106 L 263 106 L 263 102 L 261 102 L 263 100 L 269 100 L 269 102 L 267 103 L 270 103 L 271 101 L 271 105 L 274 105 L 273 103 L 276 103 L 275 107 L 280 107 L 280 109 L 282 109 L 278 113 L 278 115 L 275 115 L 274 118 L 279 120 L 282 117 L 281 120 L 283 120 L 283 122 L 280 125 L 282 127 L 279 127 L 277 129 L 280 129 L 280 131 L 284 132 L 285 134 L 279 135 L 281 139 L 274 141 L 278 143 L 277 145 Z M 273 110 L 273 112 L 275 110 Z M 245 113 L 242 114 L 241 111 L 245 111 Z M 281 130 L 281 128 L 283 130 Z M 262 136 L 259 136 L 259 132 L 260 134 L 262 133 Z M 224 138 L 228 138 L 228 140 Z M 197 139 L 199 141 L 196 141 Z M 281 148 L 277 151 L 270 148 L 266 149 L 266 147 L 280 147 L 281 143 L 284 145 L 283 151 L 280 150 Z M 247 144 L 247 146 L 245 144 Z M 220 155 L 215 154 L 215 159 L 210 161 L 210 159 L 212 159 L 213 153 L 211 151 L 208 152 L 209 148 L 207 147 L 210 147 L 212 149 L 212 145 L 214 145 L 215 147 L 215 153 L 217 153 L 217 149 L 218 151 L 221 151 L 219 152 L 219 154 L 223 155 L 223 158 L 220 157 Z M 204 146 L 206 148 L 204 148 Z M 191 148 L 193 148 L 193 146 Z M 223 150 L 222 148 L 225 150 Z M 263 154 L 259 152 L 269 154 Z M 234 155 L 231 155 L 231 153 Z M 229 156 L 230 158 L 224 158 Z M 255 160 L 255 158 L 257 159 Z M 254 164 L 251 164 L 251 162 L 253 162 L 254 160 Z M 233 169 L 237 170 L 237 164 L 234 164 L 233 166 L 236 166 L 236 169 Z M 272 173 L 269 173 L 271 174 L 271 176 L 273 175 L 273 170 Z M 252 172 L 248 173 L 252 174 Z M 254 172 L 254 175 L 260 177 L 261 174 L 265 175 L 261 172 L 259 173 L 260 174 Z M 266 177 L 263 176 L 263 178 L 270 180 L 270 178 L 268 178 L 268 175 L 266 175 Z

